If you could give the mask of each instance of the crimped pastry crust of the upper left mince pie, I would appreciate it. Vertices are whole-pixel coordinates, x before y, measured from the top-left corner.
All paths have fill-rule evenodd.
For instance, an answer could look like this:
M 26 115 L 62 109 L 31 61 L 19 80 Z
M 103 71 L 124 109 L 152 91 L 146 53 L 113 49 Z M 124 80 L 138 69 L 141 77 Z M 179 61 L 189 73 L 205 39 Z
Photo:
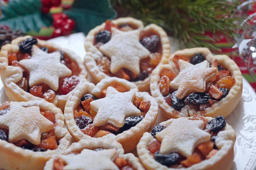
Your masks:
M 25 37 L 18 37 L 15 40 L 12 40 L 11 44 L 6 44 L 1 48 L 0 51 L 0 74 L 1 79 L 4 84 L 4 88 L 6 91 L 6 95 L 9 97 L 9 100 L 11 101 L 30 101 L 30 100 L 44 100 L 40 97 L 33 96 L 32 94 L 27 93 L 26 91 L 23 91 L 21 88 L 19 88 L 17 83 L 22 79 L 23 74 L 20 67 L 14 67 L 8 65 L 8 52 L 17 53 L 19 52 L 19 44 L 23 40 L 26 40 L 27 38 L 30 38 L 31 36 L 25 36 Z M 55 45 L 52 42 L 46 42 L 44 40 L 38 40 L 38 46 L 41 47 L 47 47 L 47 48 L 54 48 L 56 50 L 60 50 L 65 52 L 70 59 L 76 61 L 76 63 L 79 65 L 79 68 L 81 69 L 81 72 L 79 74 L 80 82 L 81 84 L 83 81 L 86 81 L 87 78 L 87 71 L 86 68 L 83 65 L 83 60 L 77 56 L 74 52 L 69 51 L 67 49 L 61 48 L 57 45 Z M 56 105 L 58 108 L 61 108 L 61 110 L 64 109 L 64 106 L 66 104 L 67 97 L 70 93 L 66 95 L 56 95 L 55 99 L 52 101 L 54 105 Z

